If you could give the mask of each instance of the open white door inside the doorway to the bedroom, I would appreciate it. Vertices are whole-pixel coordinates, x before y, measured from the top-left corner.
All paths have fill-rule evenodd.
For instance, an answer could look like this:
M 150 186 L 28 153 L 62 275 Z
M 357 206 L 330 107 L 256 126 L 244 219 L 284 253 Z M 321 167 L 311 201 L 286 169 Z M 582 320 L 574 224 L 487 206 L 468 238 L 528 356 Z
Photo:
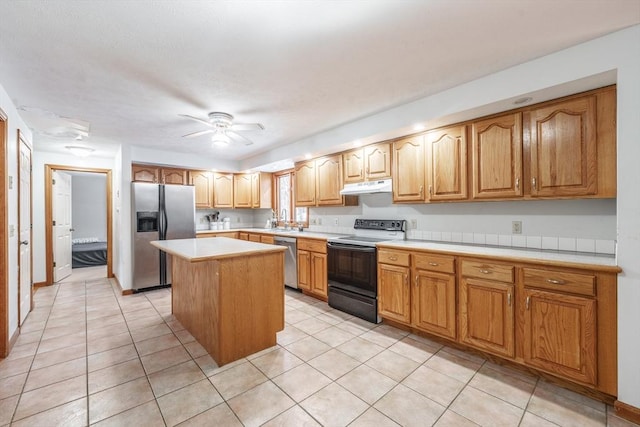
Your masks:
M 53 281 L 71 274 L 71 175 L 53 172 Z

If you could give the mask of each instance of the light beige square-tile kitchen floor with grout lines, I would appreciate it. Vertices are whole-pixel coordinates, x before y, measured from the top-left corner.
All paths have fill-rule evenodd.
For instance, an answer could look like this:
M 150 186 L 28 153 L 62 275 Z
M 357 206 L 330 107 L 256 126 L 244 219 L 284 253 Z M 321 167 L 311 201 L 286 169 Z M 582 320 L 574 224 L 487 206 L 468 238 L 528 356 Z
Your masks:
M 0 361 L 0 425 L 634 425 L 601 402 L 291 290 L 278 345 L 218 367 L 172 317 L 170 295 L 121 296 L 86 273 L 39 289 Z

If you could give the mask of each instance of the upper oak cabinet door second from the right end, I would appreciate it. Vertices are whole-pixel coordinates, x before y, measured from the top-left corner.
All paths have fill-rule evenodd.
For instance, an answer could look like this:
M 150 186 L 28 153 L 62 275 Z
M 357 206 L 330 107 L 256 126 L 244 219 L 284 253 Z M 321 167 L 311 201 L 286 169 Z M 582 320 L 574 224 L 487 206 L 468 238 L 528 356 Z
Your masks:
M 473 198 L 522 196 L 522 114 L 480 120 L 471 129 Z

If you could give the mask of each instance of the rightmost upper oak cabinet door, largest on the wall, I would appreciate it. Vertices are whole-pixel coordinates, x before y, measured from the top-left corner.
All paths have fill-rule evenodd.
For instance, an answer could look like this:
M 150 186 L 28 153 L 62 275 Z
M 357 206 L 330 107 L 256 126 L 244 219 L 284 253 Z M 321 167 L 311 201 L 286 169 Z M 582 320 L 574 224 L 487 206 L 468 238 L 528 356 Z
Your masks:
M 596 194 L 596 96 L 529 113 L 532 196 Z

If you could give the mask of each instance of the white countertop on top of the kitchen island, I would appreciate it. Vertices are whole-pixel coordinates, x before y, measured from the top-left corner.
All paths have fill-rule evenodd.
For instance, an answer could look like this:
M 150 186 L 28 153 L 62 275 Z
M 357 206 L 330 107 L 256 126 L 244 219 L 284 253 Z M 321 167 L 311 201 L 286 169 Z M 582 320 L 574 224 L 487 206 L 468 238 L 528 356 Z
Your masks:
M 168 254 L 184 258 L 190 262 L 233 258 L 268 252 L 282 252 L 284 246 L 248 242 L 228 237 L 210 237 L 199 239 L 154 240 L 156 248 Z

